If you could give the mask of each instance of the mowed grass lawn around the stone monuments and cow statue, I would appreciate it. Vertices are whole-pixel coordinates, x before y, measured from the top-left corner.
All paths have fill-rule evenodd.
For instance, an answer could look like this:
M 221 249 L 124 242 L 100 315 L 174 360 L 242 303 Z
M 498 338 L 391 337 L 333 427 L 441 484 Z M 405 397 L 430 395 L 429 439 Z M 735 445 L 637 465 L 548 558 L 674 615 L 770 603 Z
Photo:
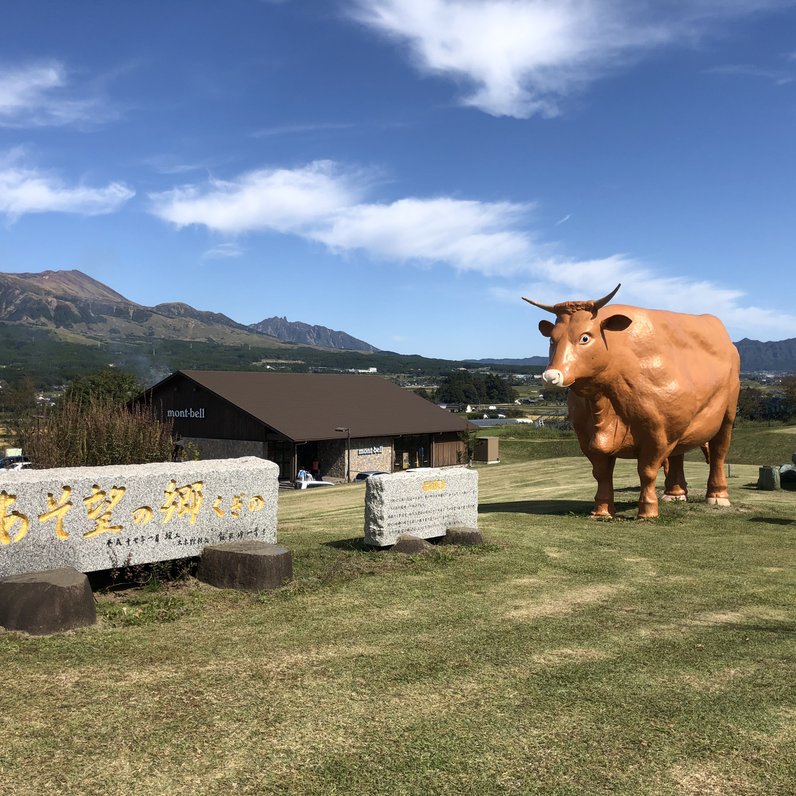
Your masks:
M 796 492 L 733 465 L 732 507 L 638 522 L 620 463 L 598 521 L 583 458 L 479 474 L 483 548 L 368 551 L 363 485 L 286 491 L 277 593 L 0 630 L 0 793 L 796 792 Z

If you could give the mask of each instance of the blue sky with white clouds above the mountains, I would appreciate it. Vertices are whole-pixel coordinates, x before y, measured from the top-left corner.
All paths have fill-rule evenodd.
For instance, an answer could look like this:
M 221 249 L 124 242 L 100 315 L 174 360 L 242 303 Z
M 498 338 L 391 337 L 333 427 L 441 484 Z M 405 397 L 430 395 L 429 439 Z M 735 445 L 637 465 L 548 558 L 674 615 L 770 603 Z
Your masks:
M 796 2 L 7 3 L 0 271 L 445 358 L 608 293 L 796 336 Z

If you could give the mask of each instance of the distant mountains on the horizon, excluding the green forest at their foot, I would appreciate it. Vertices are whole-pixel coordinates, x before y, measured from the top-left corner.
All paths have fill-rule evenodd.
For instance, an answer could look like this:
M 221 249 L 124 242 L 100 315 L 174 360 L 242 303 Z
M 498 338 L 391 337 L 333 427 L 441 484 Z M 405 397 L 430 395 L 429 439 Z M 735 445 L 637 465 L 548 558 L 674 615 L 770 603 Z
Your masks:
M 114 341 L 187 341 L 282 350 L 297 346 L 319 351 L 389 353 L 342 331 L 274 316 L 251 325 L 181 302 L 146 307 L 86 274 L 72 271 L 0 273 L 0 325 L 41 329 L 72 344 Z M 796 372 L 796 338 L 735 344 L 744 372 Z M 400 355 L 395 355 L 400 356 Z M 437 363 L 438 361 L 434 361 Z M 468 360 L 476 365 L 544 366 L 546 358 Z

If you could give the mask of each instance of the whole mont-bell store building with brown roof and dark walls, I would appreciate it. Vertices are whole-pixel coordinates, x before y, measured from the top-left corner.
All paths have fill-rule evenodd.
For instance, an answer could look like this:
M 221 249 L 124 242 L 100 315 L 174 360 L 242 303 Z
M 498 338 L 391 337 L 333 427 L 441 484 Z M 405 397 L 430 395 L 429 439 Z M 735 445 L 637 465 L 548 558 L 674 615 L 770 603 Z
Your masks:
M 200 458 L 261 456 L 286 480 L 467 463 L 467 421 L 380 376 L 179 370 L 142 397 Z

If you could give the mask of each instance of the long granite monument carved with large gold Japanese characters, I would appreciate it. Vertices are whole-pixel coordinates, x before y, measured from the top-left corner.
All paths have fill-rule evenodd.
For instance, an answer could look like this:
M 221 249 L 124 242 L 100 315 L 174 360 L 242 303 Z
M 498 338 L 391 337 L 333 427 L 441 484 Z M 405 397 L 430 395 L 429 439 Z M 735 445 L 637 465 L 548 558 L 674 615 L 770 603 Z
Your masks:
M 199 555 L 207 545 L 276 542 L 279 468 L 254 456 L 0 477 L 0 578 Z

